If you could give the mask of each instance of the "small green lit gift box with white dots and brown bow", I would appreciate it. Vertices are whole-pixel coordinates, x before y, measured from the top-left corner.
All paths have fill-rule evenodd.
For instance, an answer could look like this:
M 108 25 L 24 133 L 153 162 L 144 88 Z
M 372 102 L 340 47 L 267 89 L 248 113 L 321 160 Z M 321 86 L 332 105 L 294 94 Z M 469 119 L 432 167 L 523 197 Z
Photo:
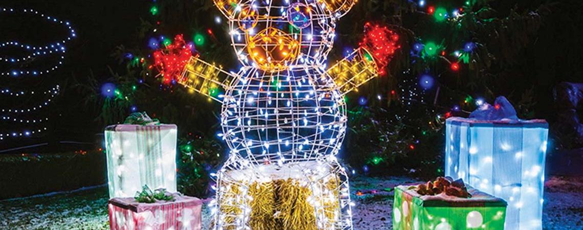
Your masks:
M 415 186 L 395 187 L 393 229 L 504 229 L 506 201 L 469 188 L 470 198 L 422 196 Z

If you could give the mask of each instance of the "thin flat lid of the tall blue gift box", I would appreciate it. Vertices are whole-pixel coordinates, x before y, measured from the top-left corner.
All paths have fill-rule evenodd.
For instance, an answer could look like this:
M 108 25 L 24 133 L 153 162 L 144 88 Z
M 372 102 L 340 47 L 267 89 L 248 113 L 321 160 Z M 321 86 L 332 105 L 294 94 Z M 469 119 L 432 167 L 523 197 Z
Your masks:
M 469 126 L 517 126 L 522 128 L 549 128 L 549 123 L 546 122 L 544 119 L 532 119 L 532 120 L 514 120 L 514 119 L 500 119 L 500 120 L 479 120 L 473 118 L 461 118 L 458 116 L 454 116 L 445 120 L 447 124 L 453 125 L 461 125 L 462 123 L 466 123 Z

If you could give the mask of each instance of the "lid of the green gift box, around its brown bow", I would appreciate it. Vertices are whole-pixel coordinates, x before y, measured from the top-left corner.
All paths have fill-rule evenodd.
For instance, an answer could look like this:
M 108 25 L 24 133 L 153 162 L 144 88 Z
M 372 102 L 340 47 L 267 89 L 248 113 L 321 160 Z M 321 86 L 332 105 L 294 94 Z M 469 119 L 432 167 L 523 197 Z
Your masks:
M 506 207 L 508 204 L 503 199 L 484 193 L 480 190 L 468 187 L 470 198 L 448 196 L 440 193 L 434 196 L 420 195 L 414 189 L 409 189 L 412 185 L 399 185 L 395 189 L 402 190 L 404 194 L 413 197 L 413 203 L 422 207 Z

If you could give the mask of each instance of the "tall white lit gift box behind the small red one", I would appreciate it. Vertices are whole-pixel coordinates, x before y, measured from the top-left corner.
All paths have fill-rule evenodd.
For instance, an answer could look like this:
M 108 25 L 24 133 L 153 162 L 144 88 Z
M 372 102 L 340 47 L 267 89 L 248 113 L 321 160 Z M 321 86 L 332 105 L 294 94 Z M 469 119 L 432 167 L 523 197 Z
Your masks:
M 110 197 L 147 185 L 176 190 L 176 125 L 111 125 L 105 130 Z

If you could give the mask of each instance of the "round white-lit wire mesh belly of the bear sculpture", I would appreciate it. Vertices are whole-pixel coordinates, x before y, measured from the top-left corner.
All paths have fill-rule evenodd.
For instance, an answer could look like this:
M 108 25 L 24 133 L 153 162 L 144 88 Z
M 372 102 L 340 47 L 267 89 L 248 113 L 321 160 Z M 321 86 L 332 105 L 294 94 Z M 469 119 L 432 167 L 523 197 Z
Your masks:
M 231 154 L 257 164 L 336 155 L 346 132 L 346 103 L 332 78 L 304 68 L 248 68 L 227 89 L 221 112 Z

